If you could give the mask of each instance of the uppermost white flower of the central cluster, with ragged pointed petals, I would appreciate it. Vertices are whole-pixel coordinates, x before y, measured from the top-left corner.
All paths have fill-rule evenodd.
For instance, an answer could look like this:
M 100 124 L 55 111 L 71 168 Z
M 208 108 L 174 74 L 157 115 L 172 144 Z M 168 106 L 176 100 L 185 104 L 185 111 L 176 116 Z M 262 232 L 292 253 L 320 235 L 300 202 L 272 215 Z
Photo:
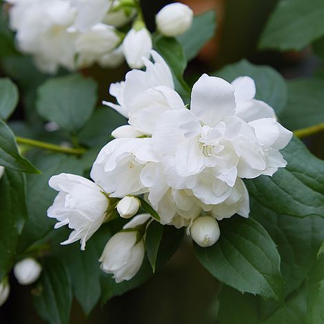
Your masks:
M 132 70 L 126 74 L 124 82 L 110 85 L 110 94 L 116 97 L 118 105 L 103 101 L 127 117 L 135 130 L 147 135 L 152 134 L 165 110 L 185 108 L 174 91 L 170 68 L 157 52 L 151 54 L 154 63 L 145 59 L 145 71 Z

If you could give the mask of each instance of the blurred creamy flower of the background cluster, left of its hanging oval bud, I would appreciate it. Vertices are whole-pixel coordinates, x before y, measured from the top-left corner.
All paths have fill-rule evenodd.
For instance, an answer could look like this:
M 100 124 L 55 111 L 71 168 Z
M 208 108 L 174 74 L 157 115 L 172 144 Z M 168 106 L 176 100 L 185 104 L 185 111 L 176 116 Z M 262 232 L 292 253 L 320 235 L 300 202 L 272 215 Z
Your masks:
M 119 36 L 114 27 L 97 23 L 90 30 L 80 33 L 75 41 L 78 66 L 84 68 L 95 62 L 101 63 L 103 56 L 114 50 L 118 43 Z

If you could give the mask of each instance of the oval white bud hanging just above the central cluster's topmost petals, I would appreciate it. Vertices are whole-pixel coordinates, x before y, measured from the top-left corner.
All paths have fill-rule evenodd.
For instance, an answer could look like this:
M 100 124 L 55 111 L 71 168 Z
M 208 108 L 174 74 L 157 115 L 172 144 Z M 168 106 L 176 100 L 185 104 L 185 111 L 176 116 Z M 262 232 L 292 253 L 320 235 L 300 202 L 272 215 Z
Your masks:
M 131 29 L 123 40 L 123 54 L 130 68 L 142 68 L 143 57 L 150 57 L 150 50 L 152 50 L 152 39 L 146 28 Z

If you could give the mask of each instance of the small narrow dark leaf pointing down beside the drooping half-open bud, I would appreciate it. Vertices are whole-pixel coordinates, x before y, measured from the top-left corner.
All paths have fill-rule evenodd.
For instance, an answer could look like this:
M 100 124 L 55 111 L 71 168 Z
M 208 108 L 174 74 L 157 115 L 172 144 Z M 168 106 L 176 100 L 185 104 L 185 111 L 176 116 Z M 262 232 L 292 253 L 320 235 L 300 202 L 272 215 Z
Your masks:
M 162 236 L 163 225 L 156 221 L 150 223 L 148 229 L 146 230 L 145 246 L 153 272 L 155 272 L 156 257 L 159 252 L 159 246 L 161 243 Z

